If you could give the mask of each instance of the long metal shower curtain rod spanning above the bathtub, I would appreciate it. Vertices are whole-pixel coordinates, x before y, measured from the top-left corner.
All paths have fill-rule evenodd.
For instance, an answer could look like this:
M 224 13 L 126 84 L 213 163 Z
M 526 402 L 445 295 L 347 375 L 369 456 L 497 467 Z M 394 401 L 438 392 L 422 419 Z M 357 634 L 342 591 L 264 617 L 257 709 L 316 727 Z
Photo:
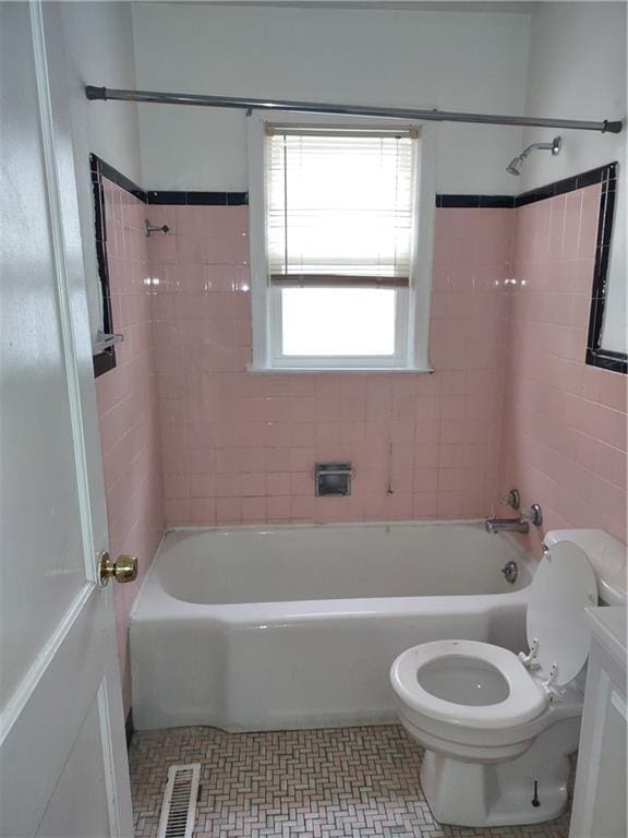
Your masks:
M 164 93 L 160 91 L 124 91 L 112 87 L 85 87 L 88 99 L 121 101 L 154 101 L 162 105 L 198 105 L 207 108 L 241 108 L 243 110 L 301 111 L 350 117 L 387 117 L 388 119 L 420 119 L 430 122 L 472 122 L 484 125 L 523 125 L 565 128 L 577 131 L 600 131 L 618 134 L 620 120 L 545 119 L 543 117 L 504 117 L 494 113 L 460 113 L 448 110 L 415 110 L 413 108 L 378 108 L 367 105 L 329 105 L 318 101 L 283 101 L 281 99 L 250 99 L 231 96 L 206 96 L 196 93 Z

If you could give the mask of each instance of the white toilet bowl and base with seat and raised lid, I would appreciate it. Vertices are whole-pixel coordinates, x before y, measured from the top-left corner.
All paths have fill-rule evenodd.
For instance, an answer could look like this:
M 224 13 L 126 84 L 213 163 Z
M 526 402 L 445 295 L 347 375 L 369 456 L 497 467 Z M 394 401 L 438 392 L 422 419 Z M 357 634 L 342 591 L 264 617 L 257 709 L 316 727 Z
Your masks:
M 527 655 L 437 641 L 391 667 L 399 718 L 425 747 L 421 785 L 440 823 L 538 823 L 567 804 L 583 698 L 576 680 L 589 655 L 584 608 L 597 603 L 597 584 L 581 547 L 556 536 L 529 588 Z

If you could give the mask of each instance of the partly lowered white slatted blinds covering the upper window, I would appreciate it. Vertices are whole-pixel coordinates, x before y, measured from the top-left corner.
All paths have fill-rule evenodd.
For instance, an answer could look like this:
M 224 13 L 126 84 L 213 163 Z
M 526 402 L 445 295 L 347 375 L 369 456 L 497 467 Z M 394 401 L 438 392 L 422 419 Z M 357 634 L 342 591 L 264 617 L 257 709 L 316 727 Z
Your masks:
M 283 129 L 266 136 L 276 285 L 409 285 L 415 132 Z

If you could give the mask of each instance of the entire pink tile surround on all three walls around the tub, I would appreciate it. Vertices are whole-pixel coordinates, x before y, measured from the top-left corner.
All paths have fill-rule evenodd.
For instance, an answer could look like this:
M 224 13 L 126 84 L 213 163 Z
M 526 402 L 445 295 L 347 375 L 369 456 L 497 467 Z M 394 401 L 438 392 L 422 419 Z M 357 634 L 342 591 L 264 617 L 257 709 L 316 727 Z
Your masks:
M 432 375 L 246 372 L 246 207 L 105 187 L 125 335 L 96 382 L 110 550 L 141 564 L 114 592 L 126 707 L 128 615 L 165 524 L 482 517 L 516 486 L 544 507 L 534 550 L 555 527 L 626 540 L 626 376 L 582 360 L 599 187 L 436 212 Z M 147 240 L 146 216 L 170 234 Z M 314 498 L 335 459 L 352 496 Z

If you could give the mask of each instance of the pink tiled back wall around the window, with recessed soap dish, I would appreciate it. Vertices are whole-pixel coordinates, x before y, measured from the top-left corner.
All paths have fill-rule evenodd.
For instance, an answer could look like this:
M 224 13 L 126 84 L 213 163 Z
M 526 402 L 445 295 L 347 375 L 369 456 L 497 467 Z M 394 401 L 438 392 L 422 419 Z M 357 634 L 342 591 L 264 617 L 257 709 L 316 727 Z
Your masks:
M 255 374 L 246 207 L 150 207 L 169 525 L 488 514 L 503 400 L 514 213 L 439 210 L 433 375 Z M 314 498 L 349 459 L 351 498 Z

